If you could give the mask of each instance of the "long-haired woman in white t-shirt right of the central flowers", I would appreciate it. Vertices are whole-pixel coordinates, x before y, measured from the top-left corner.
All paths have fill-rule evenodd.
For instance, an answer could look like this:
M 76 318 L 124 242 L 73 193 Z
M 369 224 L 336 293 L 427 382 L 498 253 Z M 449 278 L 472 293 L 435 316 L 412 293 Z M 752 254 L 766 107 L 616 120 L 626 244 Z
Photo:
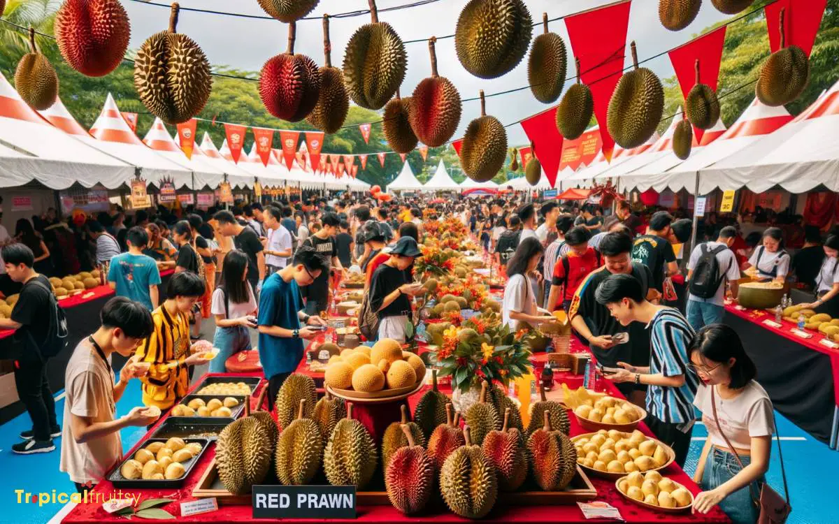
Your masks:
M 507 263 L 507 287 L 504 288 L 502 321 L 513 331 L 521 329 L 523 323 L 537 327 L 538 324 L 554 322 L 548 311 L 536 306 L 536 294 L 530 285 L 528 274 L 539 266 L 545 247 L 538 238 L 525 238 Z

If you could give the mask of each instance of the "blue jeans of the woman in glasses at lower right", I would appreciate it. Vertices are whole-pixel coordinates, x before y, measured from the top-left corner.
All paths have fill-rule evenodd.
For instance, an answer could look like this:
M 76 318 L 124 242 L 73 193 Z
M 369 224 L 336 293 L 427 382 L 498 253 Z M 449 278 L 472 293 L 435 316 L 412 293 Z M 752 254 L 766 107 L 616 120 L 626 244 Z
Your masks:
M 744 466 L 751 464 L 752 458 L 740 455 Z M 741 470 L 740 464 L 734 455 L 711 448 L 705 462 L 705 471 L 702 473 L 701 488 L 703 491 L 713 490 L 719 485 L 725 484 Z M 766 482 L 764 477 L 753 482 L 740 490 L 728 495 L 720 502 L 720 509 L 732 520 L 734 524 L 754 524 L 758 521 L 758 506 L 754 499 L 760 496 L 760 486 Z

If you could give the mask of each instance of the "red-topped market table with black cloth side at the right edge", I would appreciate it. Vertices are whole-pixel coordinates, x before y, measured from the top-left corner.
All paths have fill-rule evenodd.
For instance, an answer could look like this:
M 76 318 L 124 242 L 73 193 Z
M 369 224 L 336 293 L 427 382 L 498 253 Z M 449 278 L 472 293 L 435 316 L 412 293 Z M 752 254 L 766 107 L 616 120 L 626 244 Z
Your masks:
M 775 409 L 831 449 L 839 449 L 839 345 L 819 331 L 795 335 L 797 326 L 763 309 L 727 304 L 724 324 L 737 330 L 758 367 L 758 381 Z

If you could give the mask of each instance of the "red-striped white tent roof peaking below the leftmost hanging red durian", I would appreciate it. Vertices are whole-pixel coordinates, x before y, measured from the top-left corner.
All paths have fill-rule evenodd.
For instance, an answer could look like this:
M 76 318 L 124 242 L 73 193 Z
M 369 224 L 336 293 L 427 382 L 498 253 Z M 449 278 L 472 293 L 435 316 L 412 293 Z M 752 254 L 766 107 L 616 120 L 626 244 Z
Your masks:
M 91 135 L 97 139 L 96 148 L 142 168 L 143 179 L 149 184 L 157 185 L 160 179 L 167 177 L 175 181 L 175 187 L 192 187 L 190 169 L 181 167 L 147 147 L 128 127 L 111 93 L 108 93 L 102 112 L 91 127 Z M 86 137 L 81 139 L 87 140 Z

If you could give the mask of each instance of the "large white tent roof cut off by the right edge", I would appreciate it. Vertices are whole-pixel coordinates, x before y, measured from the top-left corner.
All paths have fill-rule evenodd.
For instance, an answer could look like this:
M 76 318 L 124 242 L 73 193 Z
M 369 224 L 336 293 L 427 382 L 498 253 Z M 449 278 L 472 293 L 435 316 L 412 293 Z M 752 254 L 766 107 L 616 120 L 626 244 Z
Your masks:
M 803 193 L 824 184 L 839 191 L 839 82 L 795 121 L 760 138 L 747 148 L 700 171 L 700 192 L 706 188 L 762 193 L 779 184 Z

